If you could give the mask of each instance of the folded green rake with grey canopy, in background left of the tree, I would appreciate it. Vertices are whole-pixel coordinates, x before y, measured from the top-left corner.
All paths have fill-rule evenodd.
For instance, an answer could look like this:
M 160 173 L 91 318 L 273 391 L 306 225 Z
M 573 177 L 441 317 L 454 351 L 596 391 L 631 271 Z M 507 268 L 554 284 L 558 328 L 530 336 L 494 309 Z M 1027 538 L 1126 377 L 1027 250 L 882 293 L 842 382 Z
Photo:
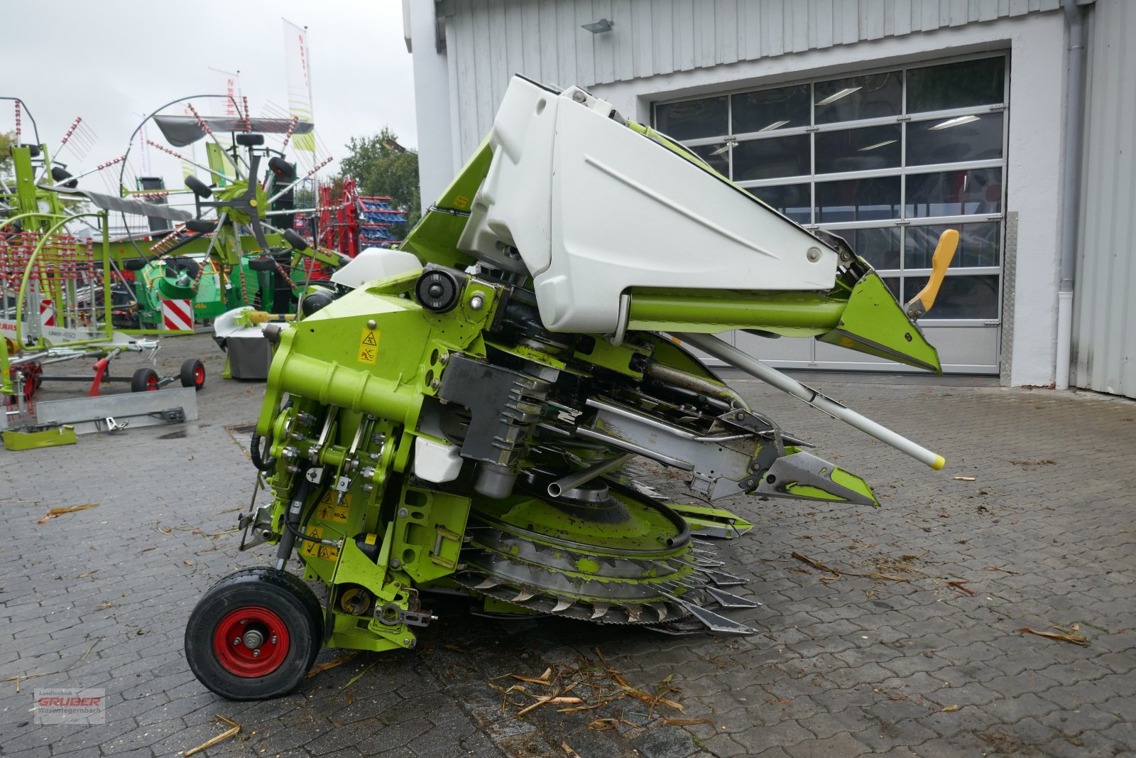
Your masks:
M 193 174 L 185 190 L 167 191 L 160 180 L 150 180 L 130 192 L 154 199 L 158 190 L 161 201 L 189 195 L 194 213 L 172 227 L 151 223 L 149 240 L 132 235 L 122 248 L 126 255 L 133 249 L 135 258 L 125 267 L 136 269 L 135 307 L 118 314 L 123 322 L 157 324 L 167 317 L 164 303 L 172 301 L 189 301 L 192 322 L 203 324 L 240 307 L 289 314 L 311 273 L 340 264 L 339 256 L 310 247 L 292 228 L 296 190 L 331 160 L 312 158 L 307 174 L 298 176 L 287 145 L 294 135 L 309 134 L 311 123 L 254 118 L 247 101 L 243 109 L 233 105 L 236 116 L 203 117 L 191 105 L 189 115 L 151 117 L 167 144 L 147 143 L 209 182 Z M 266 136 L 278 142 L 269 147 Z M 178 152 L 198 143 L 204 144 L 204 164 Z

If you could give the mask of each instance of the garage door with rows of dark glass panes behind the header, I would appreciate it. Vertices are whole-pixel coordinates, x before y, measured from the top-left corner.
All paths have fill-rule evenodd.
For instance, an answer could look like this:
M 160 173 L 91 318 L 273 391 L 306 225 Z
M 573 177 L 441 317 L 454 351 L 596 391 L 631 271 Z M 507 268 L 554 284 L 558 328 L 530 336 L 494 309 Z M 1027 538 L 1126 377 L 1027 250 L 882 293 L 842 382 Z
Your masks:
M 944 370 L 997 373 L 1008 59 L 957 58 L 654 103 L 655 128 L 799 224 L 844 236 L 901 302 L 959 250 L 920 326 Z M 774 365 L 905 370 L 815 340 L 730 336 Z

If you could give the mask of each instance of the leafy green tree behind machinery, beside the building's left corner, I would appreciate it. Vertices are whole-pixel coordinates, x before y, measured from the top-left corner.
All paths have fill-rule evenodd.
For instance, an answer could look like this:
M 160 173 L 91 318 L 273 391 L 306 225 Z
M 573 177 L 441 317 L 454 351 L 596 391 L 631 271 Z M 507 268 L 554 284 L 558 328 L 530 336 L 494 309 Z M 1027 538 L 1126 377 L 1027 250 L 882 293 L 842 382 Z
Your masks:
M 403 148 L 389 127 L 374 136 L 351 138 L 340 174 L 353 177 L 361 194 L 389 197 L 391 205 L 407 211 L 409 232 L 421 216 L 418 189 L 418 151 Z

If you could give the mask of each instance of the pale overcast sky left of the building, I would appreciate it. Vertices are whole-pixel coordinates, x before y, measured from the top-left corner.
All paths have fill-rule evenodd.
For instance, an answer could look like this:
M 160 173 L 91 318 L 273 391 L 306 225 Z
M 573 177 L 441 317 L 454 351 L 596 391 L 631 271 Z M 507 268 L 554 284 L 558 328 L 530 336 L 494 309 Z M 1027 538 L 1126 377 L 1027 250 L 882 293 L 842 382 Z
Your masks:
M 52 150 L 76 116 L 98 135 L 84 160 L 61 153 L 73 173 L 123 155 L 139 122 L 135 113 L 215 90 L 210 66 L 240 70 L 253 116 L 266 101 L 286 108 L 282 17 L 308 27 L 316 132 L 333 158 L 345 155 L 350 136 L 375 134 L 384 125 L 403 145 L 417 145 L 399 0 L 108 0 L 50 7 L 9 0 L 0 1 L 0 95 L 27 103 Z M 12 106 L 0 101 L 0 131 L 12 127 Z M 157 130 L 149 136 L 161 141 Z M 181 184 L 173 159 L 156 151 L 151 157 L 152 173 L 165 175 L 167 185 Z M 101 190 L 101 184 L 83 185 Z

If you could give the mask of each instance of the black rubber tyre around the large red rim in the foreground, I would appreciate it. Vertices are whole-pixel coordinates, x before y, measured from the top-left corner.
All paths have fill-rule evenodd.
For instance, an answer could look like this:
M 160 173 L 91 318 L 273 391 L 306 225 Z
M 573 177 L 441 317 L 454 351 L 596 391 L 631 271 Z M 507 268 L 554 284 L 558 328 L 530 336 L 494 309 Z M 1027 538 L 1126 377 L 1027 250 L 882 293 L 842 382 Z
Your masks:
M 214 650 L 218 624 L 242 606 L 267 608 L 284 622 L 289 650 L 265 676 L 227 670 Z M 268 566 L 244 568 L 214 584 L 198 601 L 185 626 L 185 659 L 202 684 L 229 700 L 266 700 L 291 692 L 311 669 L 320 647 L 323 611 L 299 577 Z

